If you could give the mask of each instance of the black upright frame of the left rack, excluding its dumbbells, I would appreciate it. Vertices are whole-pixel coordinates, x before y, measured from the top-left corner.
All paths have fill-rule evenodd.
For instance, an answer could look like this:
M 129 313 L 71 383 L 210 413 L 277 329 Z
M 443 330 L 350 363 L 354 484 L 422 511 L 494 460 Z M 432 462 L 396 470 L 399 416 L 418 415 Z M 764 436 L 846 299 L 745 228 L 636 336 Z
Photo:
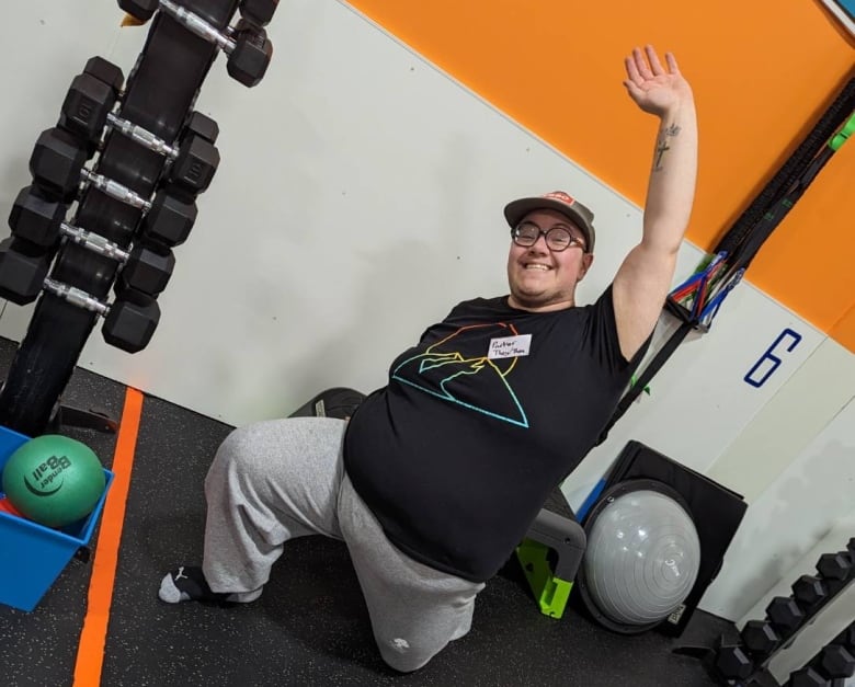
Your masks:
M 263 76 L 266 62 L 261 62 L 272 54 L 263 25 L 270 21 L 277 0 L 119 0 L 121 9 L 138 23 L 152 15 L 153 19 L 113 115 L 159 140 L 179 141 L 220 49 L 228 53 L 228 70 L 236 79 L 254 85 Z M 236 31 L 230 23 L 238 11 Z M 241 38 L 236 41 L 238 33 Z M 247 45 L 258 48 L 249 57 L 246 50 L 241 53 Z M 232 59 L 236 55 L 240 57 Z M 250 71 L 260 75 L 254 82 L 247 79 L 246 70 L 236 73 L 247 64 Z M 58 128 L 62 124 L 60 117 Z M 107 127 L 98 148 L 100 154 L 94 165 L 82 174 L 98 174 L 103 183 L 88 183 L 82 191 L 76 188 L 77 211 L 71 224 L 96 238 L 95 243 L 113 247 L 113 253 L 127 251 L 140 238 L 146 207 L 109 191 L 127 191 L 128 197 L 147 202 L 164 184 L 168 158 L 112 127 Z M 34 184 L 38 184 L 37 179 Z M 50 190 L 42 188 L 41 193 L 49 196 Z M 67 198 L 53 199 L 67 203 Z M 13 240 L 20 243 L 19 239 Z M 39 284 L 25 336 L 0 390 L 0 425 L 30 436 L 44 433 L 57 422 L 114 430 L 114 423 L 98 413 L 64 408 L 60 397 L 96 320 L 111 311 L 107 295 L 116 285 L 122 263 L 110 251 L 93 250 L 92 242 L 87 244 L 68 237 L 57 240 L 49 251 L 49 278 Z M 157 294 L 116 294 L 116 300 L 132 299 L 147 309 L 148 320 L 142 323 L 147 331 L 135 334 L 133 346 L 116 344 L 106 333 L 105 340 L 129 352 L 141 350 L 159 319 Z M 139 328 L 139 323 L 132 321 L 129 327 Z

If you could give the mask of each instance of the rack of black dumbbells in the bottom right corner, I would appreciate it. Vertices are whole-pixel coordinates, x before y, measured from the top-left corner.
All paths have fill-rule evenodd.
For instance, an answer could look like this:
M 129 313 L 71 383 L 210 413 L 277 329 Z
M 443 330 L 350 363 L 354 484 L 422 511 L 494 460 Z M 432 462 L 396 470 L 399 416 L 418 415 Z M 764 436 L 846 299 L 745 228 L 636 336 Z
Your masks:
M 749 620 L 737 639 L 719 637 L 709 648 L 685 646 L 677 653 L 704 660 L 710 676 L 731 687 L 780 687 L 768 665 L 780 651 L 791 646 L 812 618 L 855 582 L 855 537 L 846 550 L 823 553 L 817 561 L 816 575 L 801 575 L 793 584 L 790 596 L 776 596 L 766 607 L 762 620 Z M 817 656 L 787 680 L 787 687 L 837 687 L 851 676 L 841 665 L 855 671 L 855 623 L 844 630 Z M 830 661 L 839 664 L 830 667 Z

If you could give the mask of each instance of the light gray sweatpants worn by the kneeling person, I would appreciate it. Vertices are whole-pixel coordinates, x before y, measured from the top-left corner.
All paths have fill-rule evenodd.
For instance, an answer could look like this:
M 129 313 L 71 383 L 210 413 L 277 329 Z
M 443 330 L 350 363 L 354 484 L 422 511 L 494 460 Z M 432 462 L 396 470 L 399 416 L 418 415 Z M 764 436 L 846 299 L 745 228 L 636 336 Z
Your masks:
M 203 571 L 214 592 L 261 588 L 294 537 L 347 545 L 383 659 L 410 672 L 469 631 L 482 583 L 408 558 L 386 538 L 344 472 L 345 423 L 294 417 L 233 431 L 205 479 Z

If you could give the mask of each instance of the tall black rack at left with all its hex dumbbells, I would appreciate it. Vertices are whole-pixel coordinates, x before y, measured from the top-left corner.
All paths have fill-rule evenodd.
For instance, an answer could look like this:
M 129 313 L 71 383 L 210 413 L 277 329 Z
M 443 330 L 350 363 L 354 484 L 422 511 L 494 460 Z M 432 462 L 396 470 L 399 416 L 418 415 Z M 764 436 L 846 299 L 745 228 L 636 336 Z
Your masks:
M 264 26 L 276 5 L 119 0 L 125 24 L 150 22 L 142 50 L 127 79 L 101 56 L 72 77 L 0 242 L 0 296 L 36 301 L 0 390 L 1 425 L 45 430 L 99 319 L 104 341 L 127 353 L 151 341 L 174 251 L 220 162 L 217 123 L 194 103 L 220 51 L 236 81 L 261 82 L 273 55 Z

